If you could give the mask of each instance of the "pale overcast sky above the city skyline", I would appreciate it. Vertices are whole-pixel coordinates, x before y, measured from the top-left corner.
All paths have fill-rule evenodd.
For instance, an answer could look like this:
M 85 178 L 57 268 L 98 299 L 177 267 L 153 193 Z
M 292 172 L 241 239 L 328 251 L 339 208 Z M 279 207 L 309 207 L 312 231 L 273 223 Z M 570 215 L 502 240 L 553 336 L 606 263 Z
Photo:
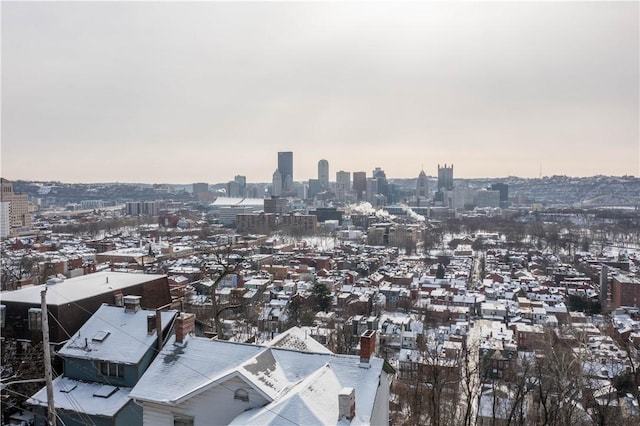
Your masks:
M 0 174 L 640 175 L 639 2 L 1 4 Z

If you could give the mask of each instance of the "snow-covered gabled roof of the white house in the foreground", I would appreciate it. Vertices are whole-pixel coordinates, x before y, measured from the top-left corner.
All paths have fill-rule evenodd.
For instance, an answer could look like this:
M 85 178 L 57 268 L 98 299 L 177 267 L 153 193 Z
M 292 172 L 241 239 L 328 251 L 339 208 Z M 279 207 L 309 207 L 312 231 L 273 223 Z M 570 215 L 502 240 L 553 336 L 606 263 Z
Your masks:
M 276 339 L 275 343 L 284 343 L 285 340 L 294 337 Z M 315 345 L 310 347 L 313 346 Z M 211 362 L 211 360 L 216 361 Z M 327 378 L 326 382 L 320 380 L 330 386 L 328 388 L 320 386 L 314 393 L 311 389 L 313 386 L 310 384 L 314 379 L 310 378 L 316 374 L 318 374 L 316 378 L 321 377 L 319 370 L 326 369 L 327 364 L 335 374 L 339 385 L 336 385 L 332 379 Z M 309 402 L 309 398 L 337 400 L 340 389 L 351 387 L 355 389 L 356 423 L 369 423 L 383 364 L 384 360 L 371 358 L 370 368 L 361 368 L 360 357 L 357 355 L 337 355 L 326 350 L 321 353 L 303 352 L 189 336 L 182 344 L 169 341 L 134 387 L 131 397 L 139 401 L 173 406 L 222 383 L 226 378 L 240 375 L 271 400 L 265 406 L 268 411 L 271 411 L 273 405 L 277 406 L 276 411 L 302 407 L 304 410 L 301 412 L 307 412 L 305 415 L 310 417 L 301 419 L 300 424 L 310 422 L 326 424 L 327 422 L 335 423 L 336 412 L 325 413 L 320 420 L 316 420 L 314 413 L 317 413 L 317 409 Z M 306 380 L 310 380 L 306 387 L 299 386 Z M 163 386 L 158 386 L 158 383 L 162 383 Z M 335 391 L 334 388 L 338 390 Z M 305 394 L 305 392 L 309 393 Z M 320 397 L 320 394 L 323 396 Z M 321 403 L 321 401 L 316 402 Z M 253 415 L 267 414 L 254 411 L 246 416 Z M 334 417 L 329 419 L 326 417 L 329 415 Z M 247 421 L 249 418 L 252 417 L 247 417 Z M 259 417 L 259 419 L 260 424 L 262 419 L 267 424 L 273 424 L 266 417 Z

